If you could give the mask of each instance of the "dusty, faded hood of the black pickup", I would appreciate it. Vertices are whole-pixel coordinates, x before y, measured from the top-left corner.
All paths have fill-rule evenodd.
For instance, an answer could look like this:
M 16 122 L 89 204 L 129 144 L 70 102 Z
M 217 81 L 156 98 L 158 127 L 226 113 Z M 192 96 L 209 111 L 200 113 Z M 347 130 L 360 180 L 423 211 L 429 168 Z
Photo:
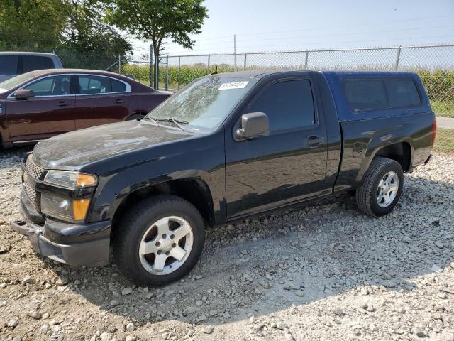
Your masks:
M 191 136 L 190 132 L 149 121 L 126 121 L 72 131 L 41 141 L 35 146 L 33 158 L 42 168 L 79 169 L 104 158 Z

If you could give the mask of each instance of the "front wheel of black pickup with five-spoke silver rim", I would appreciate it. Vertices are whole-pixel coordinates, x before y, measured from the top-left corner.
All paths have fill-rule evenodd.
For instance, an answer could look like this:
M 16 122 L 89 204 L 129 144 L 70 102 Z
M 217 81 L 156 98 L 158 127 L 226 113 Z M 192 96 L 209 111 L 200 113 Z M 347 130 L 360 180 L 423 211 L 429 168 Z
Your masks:
M 139 202 L 118 223 L 112 241 L 121 273 L 131 282 L 146 286 L 164 286 L 189 273 L 204 243 L 205 224 L 200 212 L 174 195 L 156 195 Z

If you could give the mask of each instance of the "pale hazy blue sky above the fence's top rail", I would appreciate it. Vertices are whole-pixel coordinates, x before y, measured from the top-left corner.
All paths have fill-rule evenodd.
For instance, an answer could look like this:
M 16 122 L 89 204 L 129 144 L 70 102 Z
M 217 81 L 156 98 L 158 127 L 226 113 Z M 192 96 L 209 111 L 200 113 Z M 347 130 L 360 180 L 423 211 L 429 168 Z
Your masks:
M 169 55 L 200 55 L 454 43 L 454 0 L 206 0 L 192 50 L 172 42 Z M 134 55 L 148 42 L 133 40 Z

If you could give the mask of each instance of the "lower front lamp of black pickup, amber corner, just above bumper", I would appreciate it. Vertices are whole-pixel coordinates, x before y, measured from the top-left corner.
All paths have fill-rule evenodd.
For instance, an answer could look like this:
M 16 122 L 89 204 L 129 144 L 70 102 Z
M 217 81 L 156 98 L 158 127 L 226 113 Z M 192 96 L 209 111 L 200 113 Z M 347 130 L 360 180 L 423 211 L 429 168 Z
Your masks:
M 69 222 L 82 222 L 87 216 L 90 199 L 71 199 L 60 195 L 41 193 L 41 212 Z

